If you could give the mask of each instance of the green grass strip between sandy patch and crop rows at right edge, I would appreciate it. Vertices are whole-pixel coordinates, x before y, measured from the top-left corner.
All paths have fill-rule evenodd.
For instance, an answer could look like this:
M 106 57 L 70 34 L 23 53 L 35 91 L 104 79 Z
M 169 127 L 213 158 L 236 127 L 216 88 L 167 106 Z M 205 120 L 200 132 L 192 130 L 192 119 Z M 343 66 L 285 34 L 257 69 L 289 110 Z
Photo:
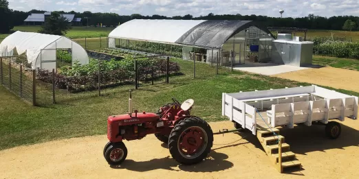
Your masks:
M 330 66 L 340 69 L 350 69 L 359 71 L 359 60 L 349 58 L 336 58 L 329 56 L 313 56 L 313 64 Z

